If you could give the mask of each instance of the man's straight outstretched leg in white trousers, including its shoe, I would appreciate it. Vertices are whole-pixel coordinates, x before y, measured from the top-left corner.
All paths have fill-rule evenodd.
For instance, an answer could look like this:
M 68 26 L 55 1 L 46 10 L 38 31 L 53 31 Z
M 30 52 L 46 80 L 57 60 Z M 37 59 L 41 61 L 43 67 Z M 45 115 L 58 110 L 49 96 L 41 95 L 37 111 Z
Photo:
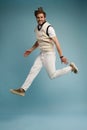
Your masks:
M 33 80 L 35 79 L 35 77 L 38 75 L 38 73 L 40 72 L 42 68 L 42 61 L 40 59 L 40 55 L 36 58 L 34 65 L 32 66 L 24 84 L 22 85 L 21 88 L 19 89 L 10 89 L 10 92 L 12 92 L 13 94 L 17 94 L 20 96 L 24 96 L 25 95 L 25 91 L 30 87 L 30 85 L 32 84 Z

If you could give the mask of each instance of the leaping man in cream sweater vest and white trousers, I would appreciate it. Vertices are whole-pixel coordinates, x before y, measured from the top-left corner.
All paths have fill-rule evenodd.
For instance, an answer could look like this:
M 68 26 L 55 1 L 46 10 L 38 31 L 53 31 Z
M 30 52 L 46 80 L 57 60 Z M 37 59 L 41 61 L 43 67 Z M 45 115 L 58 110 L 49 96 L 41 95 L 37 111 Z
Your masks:
M 33 80 L 38 75 L 43 66 L 45 67 L 51 79 L 62 76 L 69 72 L 78 72 L 78 68 L 74 63 L 70 63 L 67 67 L 62 68 L 60 70 L 56 70 L 56 56 L 54 46 L 58 51 L 61 62 L 63 62 L 64 64 L 68 64 L 68 60 L 66 57 L 63 56 L 54 28 L 46 21 L 46 13 L 44 12 L 43 8 L 40 7 L 37 10 L 35 10 L 34 15 L 38 23 L 35 29 L 37 41 L 32 46 L 32 48 L 28 49 L 24 53 L 24 56 L 28 56 L 38 47 L 40 48 L 41 52 L 39 56 L 36 58 L 21 88 L 10 90 L 13 94 L 18 94 L 21 96 L 25 95 L 26 90 L 30 87 Z

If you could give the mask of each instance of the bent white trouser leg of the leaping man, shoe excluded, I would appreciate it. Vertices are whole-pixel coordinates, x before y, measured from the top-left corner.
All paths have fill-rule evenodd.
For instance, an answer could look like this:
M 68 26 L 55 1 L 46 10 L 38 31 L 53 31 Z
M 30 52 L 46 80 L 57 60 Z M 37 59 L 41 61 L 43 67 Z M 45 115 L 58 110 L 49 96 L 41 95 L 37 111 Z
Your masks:
M 51 79 L 71 72 L 71 70 L 72 70 L 71 66 L 67 66 L 65 68 L 56 70 L 55 60 L 56 60 L 56 56 L 54 53 L 45 55 L 44 66 L 45 66 L 47 73 Z

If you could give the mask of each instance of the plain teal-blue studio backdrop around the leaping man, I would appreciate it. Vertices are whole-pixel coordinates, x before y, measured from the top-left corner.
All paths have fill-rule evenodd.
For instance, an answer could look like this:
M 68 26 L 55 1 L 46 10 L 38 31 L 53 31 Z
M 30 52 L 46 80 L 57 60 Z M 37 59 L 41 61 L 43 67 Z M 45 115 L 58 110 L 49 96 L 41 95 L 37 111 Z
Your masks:
M 44 69 L 25 97 L 19 88 L 39 50 L 24 58 L 35 42 L 34 10 L 42 6 L 55 28 L 64 55 L 79 74 L 50 80 Z M 86 0 L 0 0 L 0 130 L 87 130 Z M 57 68 L 62 68 L 57 54 Z

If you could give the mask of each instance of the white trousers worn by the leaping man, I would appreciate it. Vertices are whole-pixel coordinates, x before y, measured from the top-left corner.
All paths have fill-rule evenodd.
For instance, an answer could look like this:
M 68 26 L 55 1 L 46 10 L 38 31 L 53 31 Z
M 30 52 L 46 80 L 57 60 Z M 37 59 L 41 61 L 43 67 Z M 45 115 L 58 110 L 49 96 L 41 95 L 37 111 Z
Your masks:
M 30 87 L 35 77 L 40 72 L 41 68 L 44 66 L 49 77 L 51 79 L 59 77 L 61 75 L 71 72 L 71 67 L 67 66 L 65 68 L 56 70 L 55 67 L 56 56 L 54 52 L 41 52 L 40 55 L 36 58 L 24 84 L 21 88 L 25 91 Z

